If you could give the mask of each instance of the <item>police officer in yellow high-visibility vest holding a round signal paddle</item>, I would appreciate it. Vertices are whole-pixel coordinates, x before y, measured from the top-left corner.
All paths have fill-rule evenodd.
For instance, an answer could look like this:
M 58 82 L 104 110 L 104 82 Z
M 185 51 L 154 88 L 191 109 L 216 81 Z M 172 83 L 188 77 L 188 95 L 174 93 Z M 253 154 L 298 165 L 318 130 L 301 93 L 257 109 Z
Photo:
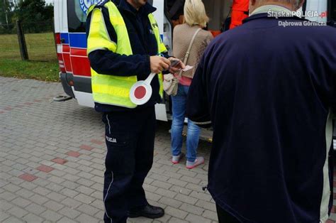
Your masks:
M 162 97 L 162 71 L 170 58 L 147 0 L 100 1 L 86 21 L 95 109 L 103 112 L 106 131 L 106 171 L 103 186 L 105 222 L 127 217 L 162 217 L 150 205 L 142 184 L 152 167 L 155 104 Z M 184 67 L 180 62 L 170 72 Z M 155 72 L 152 97 L 141 106 L 129 99 L 132 85 Z

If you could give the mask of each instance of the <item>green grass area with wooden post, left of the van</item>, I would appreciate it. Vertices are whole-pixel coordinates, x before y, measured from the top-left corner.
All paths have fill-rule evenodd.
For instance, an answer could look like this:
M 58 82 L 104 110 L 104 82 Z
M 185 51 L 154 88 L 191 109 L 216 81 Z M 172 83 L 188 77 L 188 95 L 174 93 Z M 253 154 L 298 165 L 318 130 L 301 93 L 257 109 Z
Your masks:
M 22 61 L 16 35 L 0 35 L 0 75 L 57 82 L 58 60 L 52 33 L 26 34 L 28 61 Z

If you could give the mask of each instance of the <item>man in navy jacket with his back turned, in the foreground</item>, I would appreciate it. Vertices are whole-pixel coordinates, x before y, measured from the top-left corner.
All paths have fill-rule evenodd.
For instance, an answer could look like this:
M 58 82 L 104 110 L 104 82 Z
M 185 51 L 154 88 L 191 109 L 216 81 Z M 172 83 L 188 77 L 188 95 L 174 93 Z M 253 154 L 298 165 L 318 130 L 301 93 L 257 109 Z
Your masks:
M 187 114 L 213 126 L 208 190 L 220 222 L 325 222 L 336 29 L 269 16 L 303 0 L 269 2 L 251 0 L 242 26 L 208 46 Z

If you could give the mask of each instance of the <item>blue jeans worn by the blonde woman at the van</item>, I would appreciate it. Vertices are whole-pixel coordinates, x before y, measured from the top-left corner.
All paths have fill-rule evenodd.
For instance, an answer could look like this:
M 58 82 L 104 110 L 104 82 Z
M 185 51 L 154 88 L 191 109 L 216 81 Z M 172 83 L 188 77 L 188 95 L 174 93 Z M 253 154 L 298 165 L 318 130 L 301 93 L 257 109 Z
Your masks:
M 177 95 L 172 96 L 172 155 L 179 156 L 181 153 L 184 127 L 184 117 L 186 113 L 186 98 L 189 86 L 179 85 Z M 200 129 L 196 124 L 188 119 L 188 131 L 186 133 L 186 159 L 194 162 L 196 159 L 198 139 Z

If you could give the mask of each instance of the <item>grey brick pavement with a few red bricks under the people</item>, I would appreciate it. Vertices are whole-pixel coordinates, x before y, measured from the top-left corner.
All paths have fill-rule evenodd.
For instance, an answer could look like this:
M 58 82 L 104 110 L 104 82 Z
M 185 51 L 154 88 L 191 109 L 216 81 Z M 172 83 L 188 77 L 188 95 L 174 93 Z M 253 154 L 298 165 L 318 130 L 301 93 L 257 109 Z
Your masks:
M 52 102 L 58 94 L 64 94 L 60 83 L 0 77 L 0 222 L 102 222 L 101 116 L 73 99 Z M 211 144 L 198 148 L 206 163 L 187 170 L 169 161 L 168 130 L 158 124 L 144 185 L 150 203 L 166 214 L 129 222 L 216 222 L 215 204 L 201 190 Z

